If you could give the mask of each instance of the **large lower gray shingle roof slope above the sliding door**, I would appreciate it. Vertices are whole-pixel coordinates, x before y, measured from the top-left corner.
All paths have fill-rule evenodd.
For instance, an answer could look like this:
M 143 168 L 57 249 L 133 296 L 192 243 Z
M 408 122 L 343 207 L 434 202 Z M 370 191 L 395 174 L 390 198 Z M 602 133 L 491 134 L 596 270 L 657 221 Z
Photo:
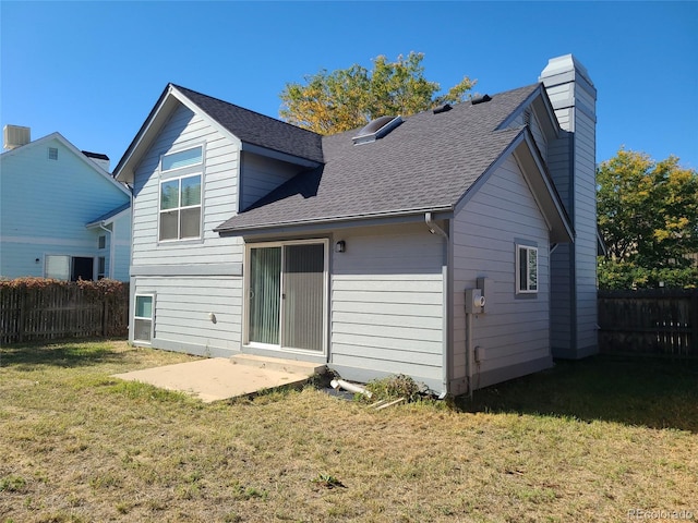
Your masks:
M 353 145 L 357 131 L 324 136 L 322 167 L 298 174 L 217 230 L 453 209 L 521 132 L 497 126 L 538 88 L 421 112 L 369 144 Z

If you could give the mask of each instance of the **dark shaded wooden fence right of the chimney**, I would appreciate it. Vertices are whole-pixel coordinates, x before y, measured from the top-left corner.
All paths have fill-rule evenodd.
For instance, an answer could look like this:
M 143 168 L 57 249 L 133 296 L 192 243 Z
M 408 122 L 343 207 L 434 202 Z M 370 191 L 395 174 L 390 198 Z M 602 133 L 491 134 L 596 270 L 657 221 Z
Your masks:
M 698 357 L 698 289 L 599 291 L 599 350 Z

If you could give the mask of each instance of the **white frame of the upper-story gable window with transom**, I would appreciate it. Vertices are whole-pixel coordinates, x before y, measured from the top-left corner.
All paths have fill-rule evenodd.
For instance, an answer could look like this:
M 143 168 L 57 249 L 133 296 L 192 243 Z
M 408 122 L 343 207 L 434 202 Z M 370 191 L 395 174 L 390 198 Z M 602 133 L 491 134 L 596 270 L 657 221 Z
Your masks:
M 173 169 L 164 169 L 163 163 L 164 160 L 172 155 L 178 155 L 181 153 L 185 153 L 188 150 L 200 149 L 201 150 L 201 159 L 194 163 L 188 163 L 182 167 L 176 167 Z M 157 194 L 157 240 L 158 243 L 172 243 L 172 242 L 185 242 L 192 240 L 201 240 L 203 238 L 204 230 L 204 159 L 206 155 L 206 146 L 205 144 L 197 144 L 190 147 L 177 148 L 169 150 L 163 155 L 160 155 L 160 159 L 158 162 L 159 170 L 159 183 L 158 183 L 158 194 Z M 178 198 L 181 198 L 181 185 L 182 180 L 188 178 L 198 177 L 200 180 L 200 202 L 197 205 L 188 205 L 181 206 L 181 202 L 178 202 L 178 206 L 170 209 L 163 209 L 163 184 L 177 181 L 178 182 Z M 198 208 L 198 234 L 195 236 L 182 236 L 181 231 L 181 212 L 186 209 L 195 209 Z M 163 215 L 166 212 L 178 211 L 177 219 L 177 238 L 163 239 L 161 238 L 161 227 L 163 227 Z

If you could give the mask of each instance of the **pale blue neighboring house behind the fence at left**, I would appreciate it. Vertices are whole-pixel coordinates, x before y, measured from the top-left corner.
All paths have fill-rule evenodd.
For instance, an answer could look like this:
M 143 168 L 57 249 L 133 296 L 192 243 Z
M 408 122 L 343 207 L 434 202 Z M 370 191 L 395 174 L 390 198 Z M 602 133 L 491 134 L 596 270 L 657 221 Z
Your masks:
M 129 281 L 131 193 L 105 155 L 7 125 L 0 155 L 0 277 Z

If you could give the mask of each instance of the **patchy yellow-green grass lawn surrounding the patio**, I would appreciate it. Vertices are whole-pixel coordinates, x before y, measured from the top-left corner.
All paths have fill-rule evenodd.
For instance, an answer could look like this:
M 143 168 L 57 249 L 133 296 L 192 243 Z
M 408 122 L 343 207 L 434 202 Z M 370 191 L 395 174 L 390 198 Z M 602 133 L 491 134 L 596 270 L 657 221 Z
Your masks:
M 1 349 L 0 522 L 698 521 L 695 362 L 567 362 L 380 412 L 312 387 L 203 404 L 109 377 L 189 358 Z

